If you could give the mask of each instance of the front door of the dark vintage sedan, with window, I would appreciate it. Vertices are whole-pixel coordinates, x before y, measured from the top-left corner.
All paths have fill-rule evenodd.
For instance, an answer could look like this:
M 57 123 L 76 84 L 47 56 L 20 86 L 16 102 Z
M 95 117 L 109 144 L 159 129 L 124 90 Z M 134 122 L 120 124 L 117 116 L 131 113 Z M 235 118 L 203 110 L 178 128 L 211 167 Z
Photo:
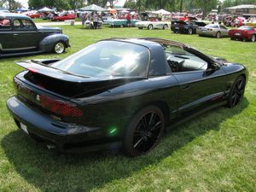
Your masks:
M 15 49 L 36 49 L 38 47 L 40 34 L 31 20 L 14 20 Z

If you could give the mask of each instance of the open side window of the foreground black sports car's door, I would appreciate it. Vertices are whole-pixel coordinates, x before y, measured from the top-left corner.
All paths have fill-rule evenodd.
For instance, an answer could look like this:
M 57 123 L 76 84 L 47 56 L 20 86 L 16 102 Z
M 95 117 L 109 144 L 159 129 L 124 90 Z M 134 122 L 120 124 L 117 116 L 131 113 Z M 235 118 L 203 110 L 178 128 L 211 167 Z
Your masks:
M 207 69 L 207 61 L 177 46 L 166 47 L 166 60 L 173 73 Z

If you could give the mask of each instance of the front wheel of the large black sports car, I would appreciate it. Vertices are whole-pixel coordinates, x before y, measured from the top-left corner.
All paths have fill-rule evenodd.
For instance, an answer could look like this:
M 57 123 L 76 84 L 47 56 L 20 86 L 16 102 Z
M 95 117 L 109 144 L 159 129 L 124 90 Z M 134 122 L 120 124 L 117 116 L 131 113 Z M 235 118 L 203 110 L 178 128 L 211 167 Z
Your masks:
M 239 76 L 236 79 L 235 83 L 232 85 L 230 96 L 228 98 L 229 108 L 234 108 L 241 102 L 245 90 L 245 84 L 246 81 L 242 76 Z

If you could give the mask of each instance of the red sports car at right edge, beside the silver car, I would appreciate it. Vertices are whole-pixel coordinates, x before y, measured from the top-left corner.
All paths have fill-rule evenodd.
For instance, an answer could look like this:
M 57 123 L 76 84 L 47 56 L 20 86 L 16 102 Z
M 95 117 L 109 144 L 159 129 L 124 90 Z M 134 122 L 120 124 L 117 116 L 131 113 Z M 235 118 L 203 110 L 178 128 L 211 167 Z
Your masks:
M 239 39 L 241 41 L 252 41 L 256 39 L 256 30 L 252 26 L 240 26 L 238 29 L 231 29 L 229 31 L 231 40 Z

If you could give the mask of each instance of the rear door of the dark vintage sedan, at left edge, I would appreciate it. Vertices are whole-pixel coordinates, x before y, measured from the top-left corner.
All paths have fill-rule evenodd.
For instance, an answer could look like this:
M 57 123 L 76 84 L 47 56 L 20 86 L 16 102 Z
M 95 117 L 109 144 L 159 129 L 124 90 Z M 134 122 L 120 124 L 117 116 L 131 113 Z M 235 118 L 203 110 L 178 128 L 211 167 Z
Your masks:
M 8 18 L 0 19 L 0 52 L 5 52 L 9 46 L 15 44 L 11 28 L 11 20 Z

